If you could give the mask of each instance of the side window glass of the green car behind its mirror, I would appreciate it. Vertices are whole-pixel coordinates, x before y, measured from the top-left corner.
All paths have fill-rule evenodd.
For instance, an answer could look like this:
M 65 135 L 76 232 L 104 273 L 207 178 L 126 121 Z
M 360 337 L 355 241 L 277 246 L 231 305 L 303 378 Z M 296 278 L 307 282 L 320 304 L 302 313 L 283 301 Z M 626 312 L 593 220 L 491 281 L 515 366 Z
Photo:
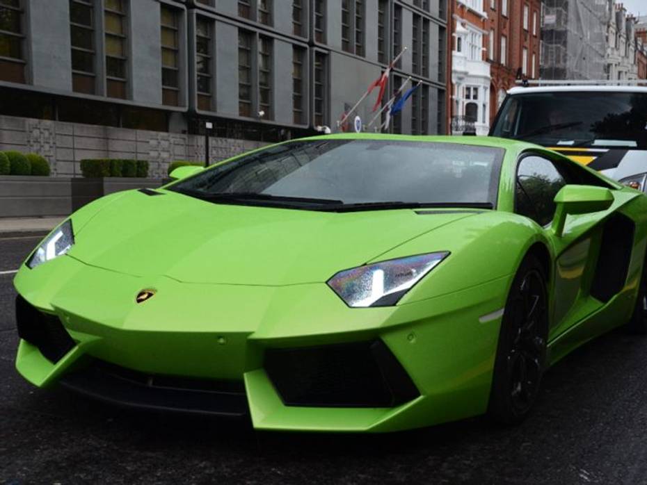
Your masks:
M 522 158 L 517 168 L 515 212 L 545 226 L 555 214 L 553 199 L 565 185 L 551 161 L 534 155 Z

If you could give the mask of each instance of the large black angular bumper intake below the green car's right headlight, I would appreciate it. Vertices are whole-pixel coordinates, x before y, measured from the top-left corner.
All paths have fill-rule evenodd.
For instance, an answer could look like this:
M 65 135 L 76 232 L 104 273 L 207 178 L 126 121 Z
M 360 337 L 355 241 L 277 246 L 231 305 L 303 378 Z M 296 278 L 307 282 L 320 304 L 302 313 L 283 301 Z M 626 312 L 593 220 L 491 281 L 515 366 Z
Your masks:
M 268 349 L 264 367 L 287 406 L 393 407 L 420 395 L 382 340 Z

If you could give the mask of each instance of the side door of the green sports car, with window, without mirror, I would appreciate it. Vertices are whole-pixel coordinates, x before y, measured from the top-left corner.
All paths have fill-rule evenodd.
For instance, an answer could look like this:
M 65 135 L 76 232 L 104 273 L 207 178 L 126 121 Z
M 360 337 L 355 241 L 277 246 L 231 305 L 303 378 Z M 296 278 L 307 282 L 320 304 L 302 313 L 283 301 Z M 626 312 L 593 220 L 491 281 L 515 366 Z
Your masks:
M 580 309 L 580 304 L 589 294 L 591 274 L 596 264 L 596 254 L 592 249 L 599 244 L 599 235 L 594 230 L 596 221 L 601 220 L 599 213 L 569 216 L 565 236 L 558 238 L 552 233 L 550 225 L 556 210 L 554 197 L 567 183 L 578 181 L 564 170 L 558 170 L 554 161 L 548 158 L 526 154 L 518 162 L 515 211 L 543 227 L 557 256 L 551 272 L 550 337 L 566 331 L 575 321 L 569 317 Z M 588 231 L 584 231 L 584 236 L 569 237 L 576 232 L 573 229 L 582 227 L 581 224 L 590 226 Z M 581 233 L 577 231 L 578 235 Z

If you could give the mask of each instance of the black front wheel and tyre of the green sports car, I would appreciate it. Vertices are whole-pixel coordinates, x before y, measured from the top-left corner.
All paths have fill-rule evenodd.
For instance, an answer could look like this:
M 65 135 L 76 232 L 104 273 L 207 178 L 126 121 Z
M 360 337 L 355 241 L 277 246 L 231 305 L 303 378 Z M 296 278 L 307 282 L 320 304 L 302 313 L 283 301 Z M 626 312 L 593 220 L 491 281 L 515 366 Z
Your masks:
M 499 333 L 488 414 L 496 422 L 524 420 L 539 393 L 548 337 L 545 272 L 535 256 L 526 256 L 512 286 Z

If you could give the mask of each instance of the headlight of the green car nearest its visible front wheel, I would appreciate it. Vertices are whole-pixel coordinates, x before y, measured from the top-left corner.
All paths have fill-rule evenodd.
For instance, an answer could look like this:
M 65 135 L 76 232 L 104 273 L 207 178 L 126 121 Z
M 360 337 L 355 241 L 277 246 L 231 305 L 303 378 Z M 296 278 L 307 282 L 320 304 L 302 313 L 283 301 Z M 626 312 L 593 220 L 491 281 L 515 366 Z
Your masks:
M 421 254 L 340 271 L 328 286 L 348 306 L 392 306 L 449 252 Z

